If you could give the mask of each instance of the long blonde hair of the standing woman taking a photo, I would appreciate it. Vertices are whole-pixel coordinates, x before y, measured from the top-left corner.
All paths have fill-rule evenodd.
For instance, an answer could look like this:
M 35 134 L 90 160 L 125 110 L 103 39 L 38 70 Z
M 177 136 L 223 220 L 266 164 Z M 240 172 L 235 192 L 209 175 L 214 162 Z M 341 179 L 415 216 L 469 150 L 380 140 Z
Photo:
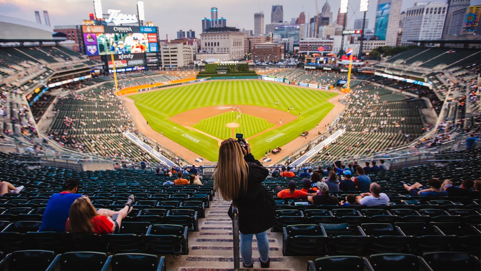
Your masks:
M 249 169 L 244 161 L 241 145 L 234 138 L 220 144 L 219 160 L 214 172 L 215 190 L 222 198 L 232 201 L 247 192 Z

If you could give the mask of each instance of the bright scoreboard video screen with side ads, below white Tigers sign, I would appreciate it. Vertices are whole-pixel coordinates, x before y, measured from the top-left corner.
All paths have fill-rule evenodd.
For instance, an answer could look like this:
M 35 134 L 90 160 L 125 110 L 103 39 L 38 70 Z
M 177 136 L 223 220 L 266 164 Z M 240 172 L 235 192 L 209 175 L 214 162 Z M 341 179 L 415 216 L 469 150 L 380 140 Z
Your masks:
M 158 52 L 156 27 L 82 26 L 87 55 Z

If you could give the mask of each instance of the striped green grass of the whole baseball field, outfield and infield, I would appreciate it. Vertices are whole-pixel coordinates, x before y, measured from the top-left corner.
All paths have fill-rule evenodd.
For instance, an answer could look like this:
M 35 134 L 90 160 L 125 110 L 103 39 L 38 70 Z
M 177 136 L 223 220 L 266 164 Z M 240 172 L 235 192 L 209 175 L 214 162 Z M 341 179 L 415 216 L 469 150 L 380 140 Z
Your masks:
M 331 92 L 300 88 L 282 83 L 249 80 L 208 81 L 130 95 L 129 97 L 135 100 L 135 105 L 149 122 L 152 129 L 159 133 L 163 132 L 164 136 L 192 150 L 199 156 L 205 157 L 210 161 L 217 161 L 218 142 L 214 138 L 179 126 L 168 119 L 187 110 L 208 106 L 253 105 L 286 111 L 287 108 L 293 106 L 295 109 L 291 110 L 290 114 L 297 116 L 301 113 L 301 116 L 296 120 L 256 136 L 249 141 L 253 155 L 256 158 L 260 158 L 264 156 L 266 150 L 273 149 L 276 146 L 283 146 L 298 137 L 303 131 L 314 128 L 334 107 L 327 102 L 334 96 L 336 94 Z M 280 105 L 275 105 L 275 101 L 280 101 Z M 246 138 L 249 137 L 248 133 L 257 134 L 258 132 L 256 131 L 263 131 L 269 128 L 263 126 L 267 123 L 265 120 L 263 124 L 263 122 L 258 121 L 259 118 L 250 117 L 252 117 L 251 121 L 246 120 L 246 123 L 241 123 L 241 125 L 245 125 L 236 129 L 237 132 L 243 133 Z M 207 124 L 209 119 L 213 118 L 218 122 Z M 196 129 L 225 139 L 231 136 L 228 133 L 227 122 L 225 121 L 232 122 L 219 116 L 211 117 L 198 123 L 202 129 Z M 246 127 L 247 125 L 253 125 L 254 127 Z M 222 132 L 224 127 L 227 128 L 227 132 Z M 173 151 L 175 152 L 174 149 Z M 281 152 L 278 155 L 279 160 L 288 154 Z

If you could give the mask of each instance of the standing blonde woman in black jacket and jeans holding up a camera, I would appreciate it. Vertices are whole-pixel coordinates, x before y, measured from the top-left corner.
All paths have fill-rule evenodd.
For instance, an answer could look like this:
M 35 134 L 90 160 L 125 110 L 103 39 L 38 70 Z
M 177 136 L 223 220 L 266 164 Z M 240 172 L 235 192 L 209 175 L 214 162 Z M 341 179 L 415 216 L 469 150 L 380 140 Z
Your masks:
M 224 140 L 219 149 L 219 160 L 214 173 L 215 190 L 226 201 L 237 201 L 241 257 L 245 268 L 252 268 L 252 238 L 257 239 L 262 268 L 269 267 L 267 230 L 274 226 L 276 202 L 262 185 L 269 171 L 255 160 L 251 147 L 242 148 L 233 138 Z M 228 211 L 232 218 L 232 205 Z

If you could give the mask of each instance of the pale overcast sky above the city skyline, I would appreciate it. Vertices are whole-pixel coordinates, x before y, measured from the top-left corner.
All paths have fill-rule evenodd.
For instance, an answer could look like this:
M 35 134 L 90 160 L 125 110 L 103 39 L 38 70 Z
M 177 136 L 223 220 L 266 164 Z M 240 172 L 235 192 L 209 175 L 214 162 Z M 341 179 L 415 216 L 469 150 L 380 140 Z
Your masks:
M 445 0 L 443 0 L 445 1 Z M 481 2 L 481 0 L 474 0 Z M 326 0 L 318 0 L 318 9 L 321 11 Z M 333 13 L 333 20 L 337 19 L 340 0 L 328 0 Z M 403 0 L 402 10 L 412 7 L 415 2 L 422 0 Z M 359 12 L 360 0 L 350 0 L 348 10 L 347 29 L 354 27 L 354 20 L 362 18 Z M 265 24 L 270 23 L 271 7 L 275 4 L 283 5 L 284 21 L 291 21 L 301 12 L 310 17 L 316 14 L 315 0 L 144 0 L 146 21 L 152 21 L 159 27 L 161 39 L 165 34 L 170 39 L 177 38 L 177 31 L 192 29 L 196 37 L 201 33 L 201 19 L 210 18 L 210 8 L 217 7 L 218 17 L 227 18 L 227 25 L 231 27 L 253 29 L 253 13 L 264 11 Z M 107 9 L 120 9 L 121 13 L 136 14 L 136 0 L 102 0 L 103 13 Z M 377 0 L 370 0 L 367 18 L 369 28 L 374 27 L 375 9 Z M 43 10 L 50 14 L 52 26 L 78 25 L 83 19 L 89 18 L 93 13 L 92 0 L 0 0 L 0 14 L 35 21 L 34 11 L 40 11 L 43 21 Z

